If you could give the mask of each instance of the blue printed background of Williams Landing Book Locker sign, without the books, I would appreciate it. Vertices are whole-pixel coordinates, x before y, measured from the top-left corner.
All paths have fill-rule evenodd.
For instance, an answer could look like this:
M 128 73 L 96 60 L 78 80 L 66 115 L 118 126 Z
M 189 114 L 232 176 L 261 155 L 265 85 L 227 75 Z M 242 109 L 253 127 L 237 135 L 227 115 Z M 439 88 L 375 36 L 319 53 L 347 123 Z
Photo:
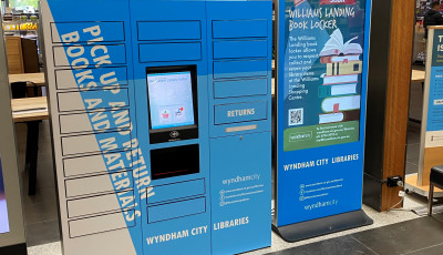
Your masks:
M 354 8 L 354 17 L 327 18 L 324 14 L 332 8 L 346 9 L 347 7 Z M 320 8 L 321 10 L 319 10 Z M 278 21 L 278 174 L 276 220 L 277 226 L 285 226 L 361 210 L 371 1 L 357 0 L 354 4 L 320 6 L 319 0 L 280 0 L 278 11 L 280 18 Z M 290 17 L 290 11 L 296 11 L 292 12 L 296 13 L 293 18 Z M 317 16 L 315 14 L 316 11 Z M 331 26 L 326 29 L 311 29 L 310 27 L 311 24 L 329 20 L 336 22 L 336 26 L 330 23 Z M 296 23 L 302 24 L 301 29 L 300 27 L 296 28 Z M 292 26 L 291 31 L 290 26 Z M 362 70 L 357 82 L 358 88 L 356 89 L 356 93 L 361 95 L 360 118 L 352 123 L 340 122 L 321 125 L 319 124 L 319 114 L 322 113 L 321 103 L 323 99 L 321 99 L 322 96 L 319 95 L 318 91 L 324 86 L 322 84 L 323 79 L 307 80 L 303 88 L 307 92 L 298 90 L 295 93 L 295 95 L 306 93 L 305 96 L 290 102 L 288 100 L 290 96 L 289 91 L 291 91 L 289 80 L 293 79 L 293 75 L 290 76 L 289 73 L 301 72 L 300 70 L 308 73 L 307 75 L 303 74 L 300 79 L 321 76 L 321 73 L 326 73 L 327 64 L 320 62 L 319 53 L 337 29 L 340 29 L 343 42 L 357 35 L 358 39 L 352 42 L 362 47 L 362 54 L 359 57 L 359 60 L 362 61 Z M 292 42 L 290 41 L 291 37 Z M 298 38 L 297 41 L 293 40 L 296 37 Z M 315 39 L 309 40 L 309 38 Z M 305 43 L 310 42 L 312 44 L 310 47 L 299 47 L 298 49 L 301 51 L 297 51 L 296 47 L 291 48 L 289 45 L 290 43 L 300 42 L 300 39 Z M 303 58 L 303 55 L 308 54 L 317 55 L 307 58 L 307 61 L 300 64 L 293 64 L 295 62 L 289 64 L 290 61 L 297 60 L 299 55 Z M 297 68 L 300 69 L 297 70 Z M 299 82 L 299 84 L 301 83 Z M 300 118 L 300 121 L 297 123 L 293 134 L 290 133 L 288 136 L 288 134 L 285 134 L 285 131 L 293 129 L 288 124 L 290 123 L 291 109 L 303 109 L 303 111 L 301 115 L 298 112 L 297 116 Z M 353 134 L 349 134 L 348 124 L 353 125 L 356 130 Z M 305 142 L 305 144 L 301 143 L 298 147 L 285 146 L 292 137 L 312 139 L 315 135 L 321 135 L 319 129 L 323 129 L 324 126 L 341 130 L 340 132 L 342 132 L 343 136 L 348 135 L 348 137 L 342 141 L 318 144 Z M 336 133 L 339 133 L 339 131 Z

